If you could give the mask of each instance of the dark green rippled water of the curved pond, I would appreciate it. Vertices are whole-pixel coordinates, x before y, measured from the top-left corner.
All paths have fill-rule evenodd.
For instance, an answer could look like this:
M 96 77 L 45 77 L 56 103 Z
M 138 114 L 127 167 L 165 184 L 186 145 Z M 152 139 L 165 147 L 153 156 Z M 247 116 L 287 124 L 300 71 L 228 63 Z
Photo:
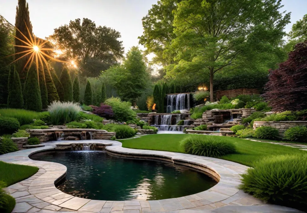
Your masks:
M 121 158 L 102 151 L 45 152 L 30 158 L 65 165 L 66 178 L 57 188 L 95 200 L 160 200 L 195 194 L 216 184 L 185 166 Z

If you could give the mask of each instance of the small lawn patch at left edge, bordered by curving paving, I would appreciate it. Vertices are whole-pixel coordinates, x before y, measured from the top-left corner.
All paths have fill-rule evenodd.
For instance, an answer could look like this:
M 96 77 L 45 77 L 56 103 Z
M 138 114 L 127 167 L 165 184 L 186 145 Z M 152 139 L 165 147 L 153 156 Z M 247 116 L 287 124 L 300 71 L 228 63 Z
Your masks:
M 0 181 L 10 186 L 19 181 L 25 180 L 37 173 L 38 168 L 34 166 L 17 165 L 0 161 Z

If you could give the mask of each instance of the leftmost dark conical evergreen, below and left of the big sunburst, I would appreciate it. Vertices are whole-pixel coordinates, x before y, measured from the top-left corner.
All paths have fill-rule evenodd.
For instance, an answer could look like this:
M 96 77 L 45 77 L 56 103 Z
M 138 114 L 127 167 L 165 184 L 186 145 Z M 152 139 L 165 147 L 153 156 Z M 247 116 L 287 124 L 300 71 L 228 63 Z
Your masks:
M 9 96 L 7 99 L 7 107 L 22 108 L 23 97 L 19 75 L 14 65 L 10 66 L 9 81 L 8 81 Z

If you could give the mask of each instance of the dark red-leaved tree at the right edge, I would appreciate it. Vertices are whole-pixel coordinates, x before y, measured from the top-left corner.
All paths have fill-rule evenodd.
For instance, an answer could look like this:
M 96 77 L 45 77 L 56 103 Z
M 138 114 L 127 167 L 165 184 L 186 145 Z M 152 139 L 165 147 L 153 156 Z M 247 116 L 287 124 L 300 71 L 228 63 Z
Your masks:
M 295 45 L 289 59 L 270 70 L 263 97 L 274 111 L 307 109 L 307 40 Z

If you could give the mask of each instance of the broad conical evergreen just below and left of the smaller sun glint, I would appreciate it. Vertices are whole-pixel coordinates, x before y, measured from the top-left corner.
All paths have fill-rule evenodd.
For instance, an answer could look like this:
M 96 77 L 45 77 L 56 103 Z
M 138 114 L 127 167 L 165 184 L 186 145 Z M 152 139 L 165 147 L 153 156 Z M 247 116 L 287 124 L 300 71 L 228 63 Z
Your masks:
M 73 101 L 72 80 L 66 67 L 62 70 L 60 82 L 63 86 L 63 93 L 60 96 L 60 101 Z

